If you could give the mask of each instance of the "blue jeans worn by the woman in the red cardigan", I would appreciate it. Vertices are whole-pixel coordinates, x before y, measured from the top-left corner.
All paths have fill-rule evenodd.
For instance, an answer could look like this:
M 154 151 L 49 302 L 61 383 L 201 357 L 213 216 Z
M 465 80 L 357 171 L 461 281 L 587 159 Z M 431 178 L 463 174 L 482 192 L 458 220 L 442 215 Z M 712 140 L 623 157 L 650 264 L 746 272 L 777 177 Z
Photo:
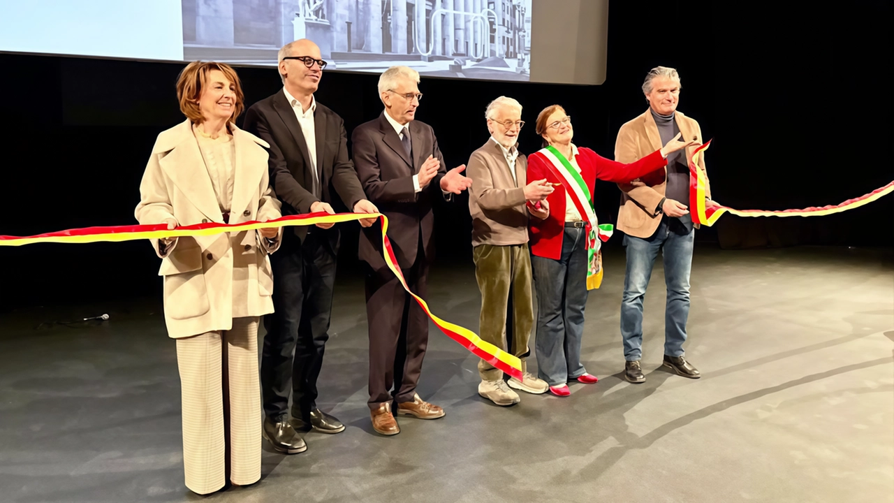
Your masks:
M 586 374 L 580 363 L 586 307 L 586 231 L 565 227 L 559 260 L 531 257 L 537 292 L 535 352 L 540 379 L 561 386 Z

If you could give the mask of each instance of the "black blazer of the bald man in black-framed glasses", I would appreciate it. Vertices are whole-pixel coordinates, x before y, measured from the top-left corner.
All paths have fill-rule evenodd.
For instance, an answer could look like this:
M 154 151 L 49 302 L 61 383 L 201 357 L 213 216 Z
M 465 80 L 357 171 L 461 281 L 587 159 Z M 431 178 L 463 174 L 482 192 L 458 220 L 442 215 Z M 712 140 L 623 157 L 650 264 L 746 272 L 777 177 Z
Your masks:
M 283 90 L 249 107 L 243 129 L 270 144 L 270 185 L 283 201 L 283 215 L 309 213 L 311 204 L 318 200 L 332 204 L 336 195 L 349 211 L 358 200 L 367 199 L 348 157 L 344 121 L 329 107 L 317 103 L 314 112 L 316 166 L 310 166 L 304 133 Z M 311 192 L 314 177 L 310 169 L 316 169 L 320 180 L 319 198 Z M 337 227 L 327 233 L 333 243 L 337 243 Z M 302 240 L 308 234 L 307 226 L 292 228 Z

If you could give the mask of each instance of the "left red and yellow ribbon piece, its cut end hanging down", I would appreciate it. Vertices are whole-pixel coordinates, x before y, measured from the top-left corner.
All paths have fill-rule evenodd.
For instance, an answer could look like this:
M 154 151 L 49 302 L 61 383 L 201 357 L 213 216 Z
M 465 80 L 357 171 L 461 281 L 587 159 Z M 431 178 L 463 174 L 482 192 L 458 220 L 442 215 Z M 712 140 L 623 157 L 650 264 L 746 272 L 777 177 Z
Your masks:
M 398 265 L 397 259 L 394 257 L 391 241 L 388 239 L 388 218 L 384 215 L 375 214 L 358 214 L 358 213 L 339 213 L 329 215 L 327 213 L 309 213 L 306 215 L 292 215 L 289 217 L 281 217 L 267 222 L 245 222 L 242 224 L 197 224 L 194 226 L 181 226 L 173 230 L 168 230 L 166 224 L 155 226 L 108 226 L 108 227 L 85 227 L 82 229 L 71 229 L 49 234 L 38 234 L 27 237 L 16 237 L 11 235 L 0 235 L 0 246 L 22 246 L 33 243 L 99 243 L 99 242 L 121 242 L 134 241 L 140 239 L 160 239 L 164 237 L 181 237 L 181 236 L 203 236 L 215 235 L 223 233 L 240 233 L 242 231 L 251 231 L 256 229 L 264 229 L 270 227 L 285 226 L 314 226 L 316 224 L 337 224 L 340 222 L 350 222 L 360 220 L 362 218 L 378 217 L 382 220 L 382 246 L 384 250 L 384 260 L 388 264 L 388 268 L 392 270 L 395 276 L 401 280 L 404 289 L 416 299 L 423 311 L 426 311 L 428 317 L 434 321 L 441 331 L 460 343 L 468 351 L 477 357 L 492 364 L 501 371 L 510 374 L 510 376 L 521 380 L 521 362 L 516 356 L 506 353 L 499 347 L 482 340 L 481 337 L 469 330 L 468 328 L 454 325 L 449 321 L 442 320 L 434 315 L 428 308 L 428 304 L 417 294 L 409 290 L 407 280 L 401 273 L 401 267 Z

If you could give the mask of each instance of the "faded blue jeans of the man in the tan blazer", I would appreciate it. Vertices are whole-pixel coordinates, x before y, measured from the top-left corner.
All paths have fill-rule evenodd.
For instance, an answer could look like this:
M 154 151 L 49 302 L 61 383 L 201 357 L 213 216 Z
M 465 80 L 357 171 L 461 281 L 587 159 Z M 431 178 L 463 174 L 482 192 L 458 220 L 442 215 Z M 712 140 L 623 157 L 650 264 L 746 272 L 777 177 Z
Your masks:
M 664 354 L 682 356 L 689 318 L 689 272 L 696 232 L 662 218 L 648 239 L 624 236 L 627 246 L 627 275 L 620 304 L 620 334 L 624 338 L 624 358 L 637 362 L 643 356 L 643 299 L 649 286 L 658 251 L 663 249 L 664 283 L 668 289 L 664 310 Z M 676 232 L 675 232 L 676 231 Z

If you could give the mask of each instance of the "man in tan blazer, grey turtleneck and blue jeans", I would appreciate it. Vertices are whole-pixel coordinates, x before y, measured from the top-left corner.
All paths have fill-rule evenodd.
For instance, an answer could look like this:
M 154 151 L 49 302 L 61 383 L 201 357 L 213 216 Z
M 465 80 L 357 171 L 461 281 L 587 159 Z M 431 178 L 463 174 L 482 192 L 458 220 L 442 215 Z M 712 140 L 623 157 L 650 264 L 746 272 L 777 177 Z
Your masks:
M 660 149 L 677 133 L 683 141 L 696 144 L 672 154 L 665 169 L 632 183 L 620 183 L 618 229 L 627 247 L 627 274 L 620 308 L 620 332 L 624 339 L 626 370 L 630 382 L 644 382 L 640 366 L 643 343 L 643 299 L 655 258 L 662 250 L 667 307 L 664 316 L 663 365 L 679 375 L 697 379 L 699 371 L 684 357 L 686 323 L 689 315 L 689 271 L 695 230 L 689 207 L 689 160 L 702 142 L 698 123 L 677 111 L 679 74 L 658 66 L 648 72 L 643 93 L 649 109 L 621 126 L 615 143 L 615 160 L 630 163 Z M 685 154 L 684 154 L 685 152 Z M 699 159 L 704 173 L 704 156 Z M 705 174 L 707 179 L 707 174 Z M 710 187 L 705 194 L 710 198 Z

